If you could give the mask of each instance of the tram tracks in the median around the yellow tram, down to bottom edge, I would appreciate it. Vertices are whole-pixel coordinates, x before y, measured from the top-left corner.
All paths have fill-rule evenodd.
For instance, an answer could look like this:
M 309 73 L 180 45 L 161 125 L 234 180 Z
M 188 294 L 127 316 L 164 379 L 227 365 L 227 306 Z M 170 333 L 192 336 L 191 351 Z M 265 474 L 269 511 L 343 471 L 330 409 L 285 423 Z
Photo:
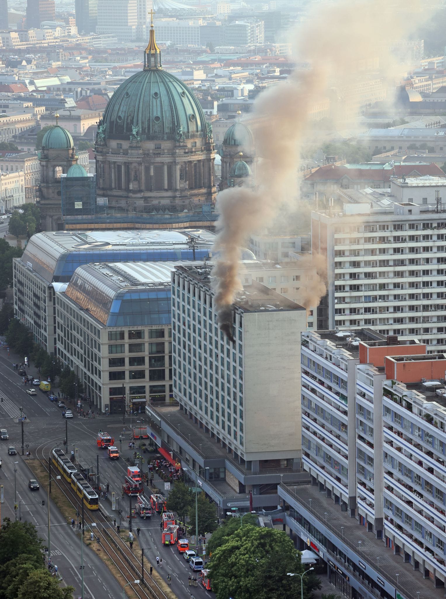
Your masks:
M 50 474 L 48 460 L 51 459 L 51 450 L 54 448 L 57 442 L 60 443 L 60 438 L 46 441 L 45 443 L 39 445 L 35 451 L 36 459 L 38 459 L 45 472 L 48 473 L 48 476 Z M 51 465 L 57 471 L 57 473 L 59 473 L 59 470 L 56 466 L 54 466 L 53 462 L 51 462 Z M 74 507 L 78 514 L 81 514 L 83 500 L 73 492 L 71 483 L 69 483 L 63 476 L 61 476 L 59 480 L 53 478 L 51 482 L 57 485 L 57 488 L 59 488 L 59 491 L 62 492 L 66 500 Z M 126 581 L 126 583 L 133 582 L 136 577 L 139 578 L 141 573 L 141 565 L 139 560 L 136 559 L 130 548 L 127 547 L 126 543 L 124 543 L 121 537 L 116 533 L 114 527 L 111 526 L 110 522 L 101 511 L 100 506 L 98 510 L 94 510 L 94 516 L 95 517 L 93 518 L 90 510 L 85 508 L 84 524 L 96 524 L 98 537 L 99 530 L 102 531 L 103 534 L 100 536 L 99 543 L 100 549 L 105 552 L 106 556 L 108 556 L 115 568 L 117 568 L 118 572 Z M 120 581 L 118 580 L 118 582 Z M 144 583 L 133 585 L 132 590 L 134 594 L 139 597 L 139 599 L 171 599 L 173 595 L 170 595 L 170 597 L 166 595 L 163 589 L 158 586 L 158 584 L 149 575 L 149 572 L 145 568 Z

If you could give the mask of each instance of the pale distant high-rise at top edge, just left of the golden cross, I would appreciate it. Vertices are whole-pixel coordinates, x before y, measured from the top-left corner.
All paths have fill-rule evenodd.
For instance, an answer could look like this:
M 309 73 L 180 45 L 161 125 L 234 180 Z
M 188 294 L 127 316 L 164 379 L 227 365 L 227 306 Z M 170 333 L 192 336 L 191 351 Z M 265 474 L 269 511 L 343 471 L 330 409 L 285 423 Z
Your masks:
M 137 25 L 137 0 L 97 0 L 97 34 L 113 34 L 118 41 L 133 41 Z

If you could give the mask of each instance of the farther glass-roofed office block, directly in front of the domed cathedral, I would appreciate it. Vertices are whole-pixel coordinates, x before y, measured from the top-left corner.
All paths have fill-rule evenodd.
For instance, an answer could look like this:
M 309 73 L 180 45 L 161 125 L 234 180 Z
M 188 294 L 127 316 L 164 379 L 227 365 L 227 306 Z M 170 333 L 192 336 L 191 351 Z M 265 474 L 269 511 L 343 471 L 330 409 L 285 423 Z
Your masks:
M 207 231 L 56 231 L 33 235 L 14 259 L 14 313 L 36 343 L 56 346 L 53 283 L 69 283 L 76 268 L 93 262 L 202 260 L 214 235 Z M 251 258 L 252 253 L 249 252 Z

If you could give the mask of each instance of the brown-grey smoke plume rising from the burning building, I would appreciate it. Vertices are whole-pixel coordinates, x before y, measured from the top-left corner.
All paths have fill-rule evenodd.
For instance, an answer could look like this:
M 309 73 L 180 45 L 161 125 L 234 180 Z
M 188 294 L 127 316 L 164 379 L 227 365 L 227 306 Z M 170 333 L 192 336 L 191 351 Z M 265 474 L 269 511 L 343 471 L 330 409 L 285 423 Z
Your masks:
M 256 155 L 255 189 L 232 187 L 218 194 L 218 262 L 213 269 L 215 302 L 219 323 L 232 330 L 231 304 L 241 288 L 240 248 L 249 236 L 273 225 L 274 217 L 286 204 L 308 210 L 298 197 L 297 164 L 310 124 L 310 110 L 326 96 L 330 87 L 348 84 L 371 57 L 387 49 L 389 40 L 401 40 L 426 18 L 421 2 L 395 0 L 341 0 L 323 6 L 316 3 L 312 14 L 294 33 L 294 57 L 307 62 L 307 69 L 295 69 L 286 81 L 260 93 L 253 107 Z M 395 65 L 389 52 L 380 56 L 380 74 L 395 83 Z M 323 273 L 326 268 L 318 268 Z M 323 274 L 302 291 L 304 304 L 317 305 L 325 294 Z

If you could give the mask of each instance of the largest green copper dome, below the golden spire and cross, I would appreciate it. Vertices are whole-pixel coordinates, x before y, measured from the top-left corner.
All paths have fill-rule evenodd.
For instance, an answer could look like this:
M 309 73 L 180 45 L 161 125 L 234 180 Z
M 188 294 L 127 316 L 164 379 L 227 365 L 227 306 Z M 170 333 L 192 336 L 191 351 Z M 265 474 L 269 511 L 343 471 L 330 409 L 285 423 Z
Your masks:
M 104 114 L 109 140 L 185 141 L 206 137 L 200 103 L 182 81 L 161 68 L 129 77 L 109 100 Z

